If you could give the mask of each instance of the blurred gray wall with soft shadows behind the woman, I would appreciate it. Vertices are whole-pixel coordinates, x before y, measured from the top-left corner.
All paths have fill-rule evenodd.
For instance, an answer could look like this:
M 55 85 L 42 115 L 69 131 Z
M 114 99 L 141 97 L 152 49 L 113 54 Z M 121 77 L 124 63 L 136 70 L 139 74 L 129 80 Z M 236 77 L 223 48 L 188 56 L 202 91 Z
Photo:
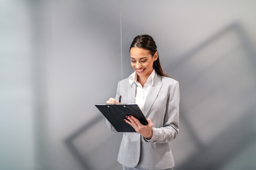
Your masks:
M 256 1 L 0 0 L 0 169 L 121 170 L 94 106 L 151 35 L 180 82 L 175 170 L 256 169 Z

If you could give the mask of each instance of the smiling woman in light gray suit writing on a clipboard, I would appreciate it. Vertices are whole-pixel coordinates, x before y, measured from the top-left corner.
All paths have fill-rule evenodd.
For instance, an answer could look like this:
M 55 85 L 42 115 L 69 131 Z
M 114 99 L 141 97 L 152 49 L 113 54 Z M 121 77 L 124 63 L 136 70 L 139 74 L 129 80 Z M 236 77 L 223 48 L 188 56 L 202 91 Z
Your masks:
M 169 78 L 160 65 L 157 46 L 150 35 L 138 35 L 130 45 L 135 72 L 118 83 L 117 95 L 107 103 L 136 103 L 148 125 L 133 116 L 124 119 L 137 133 L 124 132 L 118 161 L 123 170 L 172 170 L 174 160 L 168 142 L 179 131 L 179 83 Z M 108 128 L 117 132 L 108 122 Z

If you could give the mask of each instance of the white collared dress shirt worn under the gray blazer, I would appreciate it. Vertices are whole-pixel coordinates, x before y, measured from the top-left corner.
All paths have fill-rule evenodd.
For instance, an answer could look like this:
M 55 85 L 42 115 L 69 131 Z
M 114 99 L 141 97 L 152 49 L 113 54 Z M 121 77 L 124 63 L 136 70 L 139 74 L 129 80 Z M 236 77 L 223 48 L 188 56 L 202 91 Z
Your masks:
M 144 84 L 144 87 L 138 82 L 138 75 L 136 71 L 129 76 L 129 82 L 132 84 L 135 82 L 136 84 L 136 93 L 135 93 L 135 104 L 137 104 L 141 111 L 143 111 L 143 107 L 146 101 L 146 97 L 148 95 L 149 89 L 153 84 L 155 77 L 155 69 L 153 69 L 152 73 L 149 75 L 147 82 Z

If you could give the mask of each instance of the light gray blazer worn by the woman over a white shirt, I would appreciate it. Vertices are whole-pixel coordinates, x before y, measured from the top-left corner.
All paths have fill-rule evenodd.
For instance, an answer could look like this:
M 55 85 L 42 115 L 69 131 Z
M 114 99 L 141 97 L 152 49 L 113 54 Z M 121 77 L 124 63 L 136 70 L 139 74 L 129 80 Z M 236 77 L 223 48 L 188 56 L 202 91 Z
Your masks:
M 136 84 L 130 85 L 128 78 L 118 83 L 116 100 L 135 103 Z M 118 161 L 124 166 L 137 165 L 145 169 L 159 170 L 174 167 L 168 142 L 179 132 L 179 83 L 172 78 L 155 75 L 143 108 L 143 114 L 153 122 L 153 137 L 146 140 L 139 133 L 124 132 Z M 117 132 L 106 120 L 108 128 Z

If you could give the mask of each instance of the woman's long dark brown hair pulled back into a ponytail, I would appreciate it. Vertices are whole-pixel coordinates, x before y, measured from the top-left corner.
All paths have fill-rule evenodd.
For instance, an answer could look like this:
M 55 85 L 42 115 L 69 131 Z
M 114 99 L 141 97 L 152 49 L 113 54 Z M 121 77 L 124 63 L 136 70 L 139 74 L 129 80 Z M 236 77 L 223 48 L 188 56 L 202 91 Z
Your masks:
M 153 57 L 155 55 L 155 52 L 157 52 L 157 45 L 155 44 L 155 41 L 150 35 L 138 35 L 135 37 L 132 41 L 132 44 L 130 45 L 130 50 L 132 47 L 142 48 L 146 49 L 150 52 L 150 55 Z M 162 66 L 160 64 L 159 55 L 157 57 L 157 60 L 153 63 L 153 68 L 155 69 L 155 72 L 158 75 L 162 75 L 165 77 L 169 77 L 166 75 L 162 69 Z

